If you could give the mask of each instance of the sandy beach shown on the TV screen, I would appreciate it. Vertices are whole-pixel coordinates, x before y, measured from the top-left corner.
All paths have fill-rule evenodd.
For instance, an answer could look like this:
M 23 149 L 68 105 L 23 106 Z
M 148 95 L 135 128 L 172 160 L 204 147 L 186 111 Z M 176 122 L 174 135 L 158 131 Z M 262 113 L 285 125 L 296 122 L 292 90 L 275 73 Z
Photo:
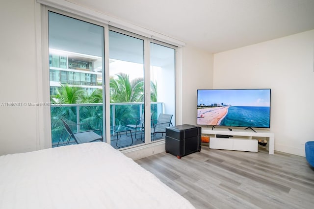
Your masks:
M 229 106 L 197 109 L 197 124 L 219 125 L 227 115 Z

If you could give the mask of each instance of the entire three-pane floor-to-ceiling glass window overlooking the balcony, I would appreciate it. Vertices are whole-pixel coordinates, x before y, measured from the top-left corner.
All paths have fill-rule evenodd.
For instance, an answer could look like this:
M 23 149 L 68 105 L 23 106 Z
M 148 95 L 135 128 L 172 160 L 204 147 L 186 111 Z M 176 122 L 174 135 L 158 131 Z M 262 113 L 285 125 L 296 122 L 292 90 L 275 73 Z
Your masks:
M 164 139 L 155 130 L 162 114 L 175 125 L 175 46 L 52 11 L 48 24 L 52 146 L 76 143 L 61 119 L 117 149 Z

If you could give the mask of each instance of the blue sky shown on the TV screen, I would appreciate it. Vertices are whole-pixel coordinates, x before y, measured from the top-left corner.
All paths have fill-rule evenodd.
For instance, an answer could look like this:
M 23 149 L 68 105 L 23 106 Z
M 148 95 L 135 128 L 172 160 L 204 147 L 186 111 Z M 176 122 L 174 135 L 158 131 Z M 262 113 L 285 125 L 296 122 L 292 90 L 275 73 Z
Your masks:
M 270 89 L 198 90 L 197 104 L 270 106 Z

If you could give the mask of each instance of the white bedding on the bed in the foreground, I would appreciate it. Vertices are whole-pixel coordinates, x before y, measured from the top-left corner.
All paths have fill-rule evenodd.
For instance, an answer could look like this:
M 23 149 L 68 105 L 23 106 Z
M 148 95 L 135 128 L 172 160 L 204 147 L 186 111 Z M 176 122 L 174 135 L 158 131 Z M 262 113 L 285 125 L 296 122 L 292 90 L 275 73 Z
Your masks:
M 0 209 L 194 209 L 104 142 L 0 156 Z

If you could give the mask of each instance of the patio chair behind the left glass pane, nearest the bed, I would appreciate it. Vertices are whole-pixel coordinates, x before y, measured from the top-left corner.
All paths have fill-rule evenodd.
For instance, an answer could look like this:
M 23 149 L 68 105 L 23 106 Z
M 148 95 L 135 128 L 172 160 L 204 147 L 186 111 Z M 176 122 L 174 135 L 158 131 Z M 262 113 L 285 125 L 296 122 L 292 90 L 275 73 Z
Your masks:
M 74 141 L 77 144 L 88 143 L 88 142 L 97 141 L 97 140 L 104 141 L 103 132 L 100 129 L 90 130 L 91 128 L 87 123 L 71 124 L 71 126 L 75 125 L 79 127 L 83 125 L 87 125 L 89 129 L 89 130 L 78 131 L 78 132 L 73 133 L 72 129 L 70 128 L 70 125 L 68 125 L 62 118 L 61 118 L 61 121 L 64 124 L 64 128 L 60 135 L 60 139 L 58 141 L 57 146 L 59 146 L 60 141 L 63 145 L 64 145 L 64 142 L 66 145 L 68 145 L 71 139 L 74 139 Z M 65 133 L 67 133 L 69 136 L 65 140 L 63 140 L 62 138 Z

